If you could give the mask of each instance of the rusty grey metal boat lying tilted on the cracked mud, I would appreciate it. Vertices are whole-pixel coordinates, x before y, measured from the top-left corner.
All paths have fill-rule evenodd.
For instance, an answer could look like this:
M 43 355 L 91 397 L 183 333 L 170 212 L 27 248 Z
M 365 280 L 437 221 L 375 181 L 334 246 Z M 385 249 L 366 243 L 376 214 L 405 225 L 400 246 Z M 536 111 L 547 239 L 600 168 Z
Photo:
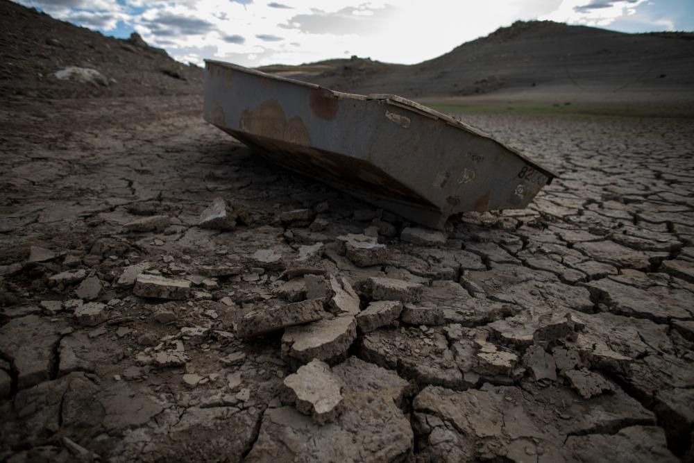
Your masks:
M 390 94 L 334 92 L 205 63 L 205 120 L 257 153 L 418 224 L 522 209 L 555 174 L 489 135 Z

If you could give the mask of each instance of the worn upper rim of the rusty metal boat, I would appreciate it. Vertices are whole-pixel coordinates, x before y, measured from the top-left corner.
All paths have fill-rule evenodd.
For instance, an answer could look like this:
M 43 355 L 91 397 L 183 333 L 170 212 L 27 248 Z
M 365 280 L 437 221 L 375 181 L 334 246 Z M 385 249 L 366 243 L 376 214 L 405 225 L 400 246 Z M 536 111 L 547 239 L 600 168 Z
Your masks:
M 268 74 L 266 72 L 258 71 L 257 69 L 252 69 L 250 67 L 235 65 L 231 62 L 219 61 L 219 60 L 205 60 L 205 65 L 207 65 L 208 63 L 213 64 L 213 65 L 219 65 L 221 67 L 227 67 L 227 68 L 232 69 L 234 71 L 240 71 L 240 72 L 244 72 L 246 74 L 252 74 L 252 75 L 260 76 L 260 77 L 264 77 L 264 78 L 271 78 L 275 81 L 292 83 L 295 85 L 301 85 L 303 87 L 309 87 L 312 89 L 325 90 L 325 91 L 330 92 L 331 94 L 335 95 L 338 99 L 355 99 L 355 100 L 359 100 L 359 101 L 383 101 L 384 103 L 386 103 L 390 106 L 395 106 L 396 108 L 402 108 L 402 109 L 408 110 L 410 112 L 414 112 L 418 115 L 423 115 L 425 117 L 430 117 L 432 119 L 441 119 L 441 121 L 443 121 L 444 123 L 446 123 L 450 126 L 453 126 L 455 128 L 461 128 L 464 131 L 473 133 L 473 134 L 478 135 L 480 137 L 487 138 L 487 139 L 491 140 L 492 142 L 500 144 L 505 149 L 511 151 L 511 153 L 514 153 L 519 158 L 521 158 L 522 160 L 524 160 L 528 164 L 532 165 L 535 169 L 543 172 L 543 174 L 546 174 L 548 176 L 546 185 L 549 185 L 550 183 L 552 183 L 552 180 L 554 178 L 559 178 L 559 175 L 556 174 L 554 171 L 547 169 L 546 167 L 542 167 L 537 162 L 528 158 L 526 155 L 524 155 L 523 153 L 521 153 L 517 149 L 512 148 L 511 146 L 508 146 L 507 144 L 496 140 L 495 138 L 491 137 L 491 135 L 489 135 L 488 133 L 480 131 L 479 129 L 474 128 L 473 126 L 468 126 L 468 124 L 465 124 L 462 121 L 459 121 L 459 120 L 457 120 L 457 119 L 455 119 L 449 115 L 446 115 L 443 112 L 439 112 L 439 111 L 434 110 L 432 108 L 428 108 L 427 106 L 424 106 L 420 103 L 417 103 L 416 101 L 412 101 L 412 100 L 409 100 L 407 98 L 404 98 L 403 96 L 399 96 L 396 94 L 389 94 L 389 93 L 377 93 L 377 94 L 362 95 L 362 94 L 357 94 L 357 93 L 339 92 L 337 90 L 331 90 L 330 88 L 323 87 L 323 86 L 315 84 L 315 83 L 310 83 L 310 82 L 306 82 L 306 81 L 299 81 L 298 79 L 284 77 L 284 76 L 276 76 L 274 74 Z

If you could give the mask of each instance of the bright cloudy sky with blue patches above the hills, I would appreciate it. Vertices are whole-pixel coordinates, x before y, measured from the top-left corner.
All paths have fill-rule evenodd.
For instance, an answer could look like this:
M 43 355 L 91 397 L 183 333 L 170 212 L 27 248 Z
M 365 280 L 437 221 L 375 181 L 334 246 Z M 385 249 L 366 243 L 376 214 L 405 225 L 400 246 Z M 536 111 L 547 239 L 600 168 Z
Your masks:
M 518 19 L 692 31 L 694 0 L 16 0 L 182 62 L 301 64 L 352 55 L 412 64 Z

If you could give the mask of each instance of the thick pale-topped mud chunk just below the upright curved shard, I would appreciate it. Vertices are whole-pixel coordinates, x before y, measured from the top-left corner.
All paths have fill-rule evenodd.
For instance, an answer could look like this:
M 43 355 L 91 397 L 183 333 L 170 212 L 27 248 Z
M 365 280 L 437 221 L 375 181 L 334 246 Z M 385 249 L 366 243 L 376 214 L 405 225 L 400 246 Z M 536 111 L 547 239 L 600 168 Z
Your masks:
M 343 357 L 356 337 L 357 322 L 349 314 L 306 326 L 293 326 L 282 336 L 282 357 L 292 357 L 303 363 L 314 358 L 327 362 Z

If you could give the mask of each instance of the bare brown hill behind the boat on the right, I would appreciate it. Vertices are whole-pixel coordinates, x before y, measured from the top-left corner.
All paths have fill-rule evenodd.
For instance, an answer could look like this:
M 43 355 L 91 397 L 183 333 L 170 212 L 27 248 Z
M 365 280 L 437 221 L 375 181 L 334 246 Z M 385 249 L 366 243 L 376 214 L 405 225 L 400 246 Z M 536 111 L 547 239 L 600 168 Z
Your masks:
M 694 88 L 691 35 L 627 34 L 586 26 L 516 22 L 417 65 L 332 61 L 287 69 L 298 78 L 358 93 L 466 96 L 558 87 L 602 92 L 689 92 Z M 271 69 L 271 68 L 270 68 Z M 271 69 L 272 70 L 272 69 Z

